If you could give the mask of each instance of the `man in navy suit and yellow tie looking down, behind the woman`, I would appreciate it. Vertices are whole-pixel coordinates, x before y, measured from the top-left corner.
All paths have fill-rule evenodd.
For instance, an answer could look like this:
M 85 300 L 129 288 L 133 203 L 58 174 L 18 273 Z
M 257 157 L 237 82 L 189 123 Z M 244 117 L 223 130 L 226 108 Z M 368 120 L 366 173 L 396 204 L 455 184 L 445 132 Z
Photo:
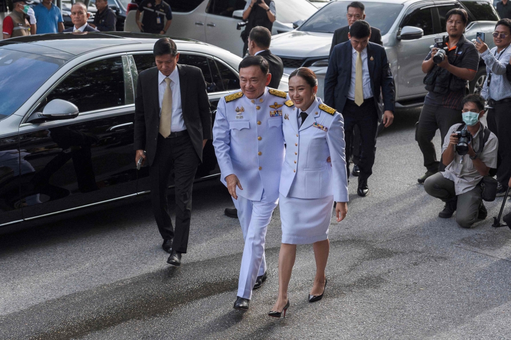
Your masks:
M 357 20 L 350 28 L 350 41 L 334 47 L 324 79 L 324 103 L 344 117 L 346 159 L 351 152 L 354 126 L 360 129 L 359 196 L 367 196 L 367 179 L 373 174 L 378 123 L 385 127 L 394 119 L 394 86 L 385 48 L 369 42 L 371 28 Z M 350 79 L 350 81 L 347 81 Z M 385 112 L 380 108 L 380 88 Z M 382 117 L 383 116 L 383 117 Z M 350 173 L 350 165 L 347 173 Z

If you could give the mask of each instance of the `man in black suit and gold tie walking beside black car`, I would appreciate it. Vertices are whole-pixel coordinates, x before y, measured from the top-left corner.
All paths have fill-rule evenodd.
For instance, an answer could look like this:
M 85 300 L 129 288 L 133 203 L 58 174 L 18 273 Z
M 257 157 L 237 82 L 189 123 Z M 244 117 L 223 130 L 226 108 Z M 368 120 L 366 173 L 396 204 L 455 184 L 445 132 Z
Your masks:
M 192 184 L 202 148 L 212 139 L 211 110 L 199 68 L 176 65 L 174 41 L 154 44 L 156 67 L 140 73 L 135 98 L 135 162 L 149 162 L 151 201 L 156 224 L 171 253 L 167 262 L 180 265 L 187 252 L 192 216 Z M 146 155 L 144 155 L 144 150 Z M 172 227 L 167 188 L 174 168 L 176 228 Z

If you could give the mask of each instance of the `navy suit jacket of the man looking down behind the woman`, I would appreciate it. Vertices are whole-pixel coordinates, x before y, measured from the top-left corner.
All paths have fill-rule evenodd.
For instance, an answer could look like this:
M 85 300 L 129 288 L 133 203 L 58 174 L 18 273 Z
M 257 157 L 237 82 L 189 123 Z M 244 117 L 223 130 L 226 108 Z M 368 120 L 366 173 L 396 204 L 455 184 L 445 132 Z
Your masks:
M 352 52 L 350 41 L 334 47 L 328 62 L 327 74 L 324 78 L 324 103 L 342 113 L 351 85 Z M 367 44 L 367 67 L 371 80 L 373 98 L 378 110 L 378 119 L 382 120 L 380 107 L 380 87 L 383 94 L 385 110 L 394 110 L 394 85 L 392 72 L 385 53 L 385 48 L 374 42 Z

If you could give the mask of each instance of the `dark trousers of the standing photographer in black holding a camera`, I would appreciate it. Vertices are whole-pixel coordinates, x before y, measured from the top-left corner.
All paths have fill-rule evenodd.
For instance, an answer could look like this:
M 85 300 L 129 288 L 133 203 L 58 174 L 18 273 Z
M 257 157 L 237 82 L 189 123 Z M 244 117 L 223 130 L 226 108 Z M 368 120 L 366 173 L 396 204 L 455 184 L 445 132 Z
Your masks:
M 419 143 L 419 148 L 421 148 L 424 156 L 424 166 L 428 171 L 436 173 L 438 171 L 444 171 L 446 168 L 441 161 L 436 159 L 435 145 L 432 142 L 436 130 L 440 129 L 440 137 L 442 138 L 443 145 L 449 128 L 461 122 L 461 110 L 427 104 L 422 107 L 415 139 L 417 143 Z M 442 160 L 442 157 L 440 157 L 440 160 Z

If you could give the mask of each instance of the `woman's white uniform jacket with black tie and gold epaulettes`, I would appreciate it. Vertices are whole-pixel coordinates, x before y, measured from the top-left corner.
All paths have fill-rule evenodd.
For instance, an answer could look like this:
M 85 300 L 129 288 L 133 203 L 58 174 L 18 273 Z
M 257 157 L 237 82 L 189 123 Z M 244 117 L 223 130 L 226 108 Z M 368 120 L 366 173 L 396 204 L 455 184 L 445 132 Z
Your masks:
M 280 193 L 284 197 L 300 199 L 333 195 L 334 201 L 347 202 L 342 116 L 318 98 L 315 108 L 299 127 L 297 110 L 291 100 L 285 103 L 283 131 L 286 158 Z M 327 162 L 329 156 L 332 163 Z

